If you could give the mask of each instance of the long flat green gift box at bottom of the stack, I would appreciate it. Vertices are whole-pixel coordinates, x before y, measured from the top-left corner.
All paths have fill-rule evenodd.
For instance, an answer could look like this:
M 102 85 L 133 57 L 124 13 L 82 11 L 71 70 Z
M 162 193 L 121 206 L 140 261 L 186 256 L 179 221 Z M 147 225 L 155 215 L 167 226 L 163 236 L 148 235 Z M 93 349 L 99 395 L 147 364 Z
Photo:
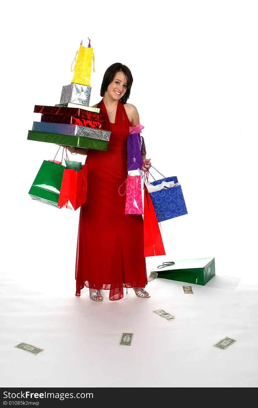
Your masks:
M 36 140 L 37 142 L 63 144 L 65 146 L 108 151 L 108 142 L 106 140 L 93 139 L 91 137 L 64 135 L 62 133 L 29 130 L 27 140 Z

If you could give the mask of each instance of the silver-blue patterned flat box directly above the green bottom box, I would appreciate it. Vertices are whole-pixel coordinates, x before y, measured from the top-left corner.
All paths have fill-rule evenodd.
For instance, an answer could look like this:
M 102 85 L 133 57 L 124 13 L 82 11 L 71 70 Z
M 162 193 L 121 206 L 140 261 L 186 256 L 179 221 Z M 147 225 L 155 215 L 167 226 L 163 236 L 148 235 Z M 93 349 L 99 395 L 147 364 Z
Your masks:
M 111 134 L 111 132 L 107 130 L 52 122 L 33 122 L 32 130 L 38 132 L 60 133 L 71 136 L 91 137 L 92 139 L 104 140 L 106 142 L 109 142 Z

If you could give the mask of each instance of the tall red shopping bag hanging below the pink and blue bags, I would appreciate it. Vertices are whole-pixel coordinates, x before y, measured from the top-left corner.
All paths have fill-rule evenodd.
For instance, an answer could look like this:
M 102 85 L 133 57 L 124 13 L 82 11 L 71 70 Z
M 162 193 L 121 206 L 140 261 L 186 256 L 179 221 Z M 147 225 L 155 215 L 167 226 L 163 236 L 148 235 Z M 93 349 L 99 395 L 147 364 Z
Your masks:
M 145 257 L 166 255 L 150 193 L 146 187 L 144 187 L 143 237 Z

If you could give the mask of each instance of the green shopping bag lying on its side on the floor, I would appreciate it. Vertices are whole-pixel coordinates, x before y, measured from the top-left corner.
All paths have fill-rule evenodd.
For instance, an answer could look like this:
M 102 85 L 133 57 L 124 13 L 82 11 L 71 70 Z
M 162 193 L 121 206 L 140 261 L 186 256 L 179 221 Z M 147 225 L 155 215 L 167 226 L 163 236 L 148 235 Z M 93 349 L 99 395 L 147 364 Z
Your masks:
M 164 262 L 153 272 L 158 273 L 158 278 L 176 280 L 180 282 L 206 285 L 215 275 L 215 258 L 181 259 L 172 262 Z

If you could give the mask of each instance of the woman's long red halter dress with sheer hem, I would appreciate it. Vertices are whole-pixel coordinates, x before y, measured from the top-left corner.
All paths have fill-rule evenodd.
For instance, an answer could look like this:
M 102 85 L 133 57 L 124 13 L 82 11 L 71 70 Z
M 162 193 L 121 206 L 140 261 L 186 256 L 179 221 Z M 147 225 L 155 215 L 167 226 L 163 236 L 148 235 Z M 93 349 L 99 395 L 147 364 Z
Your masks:
M 118 192 L 127 179 L 131 126 L 124 106 L 118 102 L 115 123 L 110 123 L 103 100 L 98 107 L 111 135 L 107 152 L 89 150 L 86 157 L 87 200 L 79 217 L 76 296 L 87 286 L 110 289 L 109 299 L 118 300 L 123 297 L 123 287 L 144 288 L 147 284 L 143 217 L 125 214 L 126 195 Z

